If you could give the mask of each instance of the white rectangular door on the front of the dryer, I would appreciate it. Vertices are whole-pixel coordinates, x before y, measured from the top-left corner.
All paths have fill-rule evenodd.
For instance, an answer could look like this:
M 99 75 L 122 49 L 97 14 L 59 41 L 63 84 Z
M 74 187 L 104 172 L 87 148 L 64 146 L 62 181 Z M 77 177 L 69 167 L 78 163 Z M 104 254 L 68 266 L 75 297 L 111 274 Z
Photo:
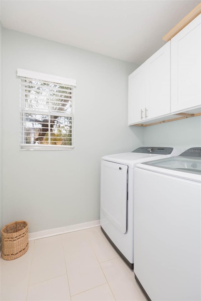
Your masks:
M 126 233 L 127 221 L 127 171 L 127 165 L 101 161 L 100 206 L 122 233 Z

